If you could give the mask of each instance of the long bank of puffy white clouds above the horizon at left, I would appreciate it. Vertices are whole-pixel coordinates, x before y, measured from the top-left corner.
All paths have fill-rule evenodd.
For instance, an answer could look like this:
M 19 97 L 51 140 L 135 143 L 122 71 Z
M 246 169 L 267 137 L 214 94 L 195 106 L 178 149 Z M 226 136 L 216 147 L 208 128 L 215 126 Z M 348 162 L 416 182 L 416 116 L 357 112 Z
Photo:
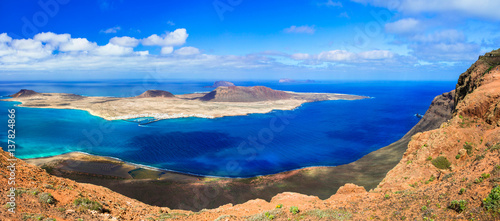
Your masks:
M 172 40 L 183 31 L 162 37 L 168 44 L 180 44 L 185 39 Z M 171 37 L 169 37 L 171 36 Z M 35 40 L 36 38 L 36 40 Z M 178 38 L 177 38 L 178 39 Z M 162 56 L 149 51 L 134 51 L 139 39 L 114 38 L 98 45 L 86 38 L 41 33 L 33 39 L 12 39 L 0 34 L 0 70 L 43 73 L 45 71 L 142 71 L 164 67 L 169 71 L 206 70 L 207 68 L 255 68 L 269 66 L 272 59 L 265 56 L 218 56 L 202 54 L 195 47 L 164 46 Z M 56 46 L 52 46 L 52 42 Z M 167 43 L 160 43 L 165 45 Z M 266 62 L 266 63 L 264 63 Z M 192 73 L 192 72 L 190 72 Z

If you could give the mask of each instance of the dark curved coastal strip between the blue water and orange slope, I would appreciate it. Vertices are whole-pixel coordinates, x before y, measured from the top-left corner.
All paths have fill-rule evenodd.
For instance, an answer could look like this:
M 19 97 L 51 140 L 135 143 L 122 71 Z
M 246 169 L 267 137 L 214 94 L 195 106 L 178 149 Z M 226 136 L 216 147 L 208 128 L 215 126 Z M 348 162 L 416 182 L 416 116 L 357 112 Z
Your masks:
M 366 190 L 376 188 L 386 174 L 399 163 L 411 137 L 419 132 L 439 128 L 451 117 L 452 108 L 453 93 L 437 96 L 424 117 L 400 140 L 349 164 L 334 167 L 305 167 L 250 178 L 188 175 L 82 153 L 77 155 L 84 158 L 59 155 L 26 160 L 26 162 L 40 165 L 56 176 L 104 186 L 147 204 L 173 209 L 199 211 L 228 203 L 244 203 L 256 198 L 269 201 L 276 194 L 283 192 L 296 192 L 328 199 L 346 183 L 363 186 Z M 52 163 L 47 163 L 49 161 Z M 158 191 L 162 194 L 155 194 Z M 203 199 L 196 198 L 200 197 L 196 193 L 205 191 L 218 193 L 217 198 L 211 198 L 205 204 L 200 204 Z M 193 193 L 195 198 L 192 198 Z M 193 200 L 186 201 L 186 198 Z

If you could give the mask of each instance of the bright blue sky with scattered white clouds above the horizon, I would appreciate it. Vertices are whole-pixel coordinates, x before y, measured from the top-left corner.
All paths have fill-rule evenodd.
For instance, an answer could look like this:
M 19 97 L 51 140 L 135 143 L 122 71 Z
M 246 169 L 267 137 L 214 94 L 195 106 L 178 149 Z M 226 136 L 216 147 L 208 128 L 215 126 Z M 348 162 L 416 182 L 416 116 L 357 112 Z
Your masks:
M 456 80 L 496 0 L 0 0 L 5 81 Z

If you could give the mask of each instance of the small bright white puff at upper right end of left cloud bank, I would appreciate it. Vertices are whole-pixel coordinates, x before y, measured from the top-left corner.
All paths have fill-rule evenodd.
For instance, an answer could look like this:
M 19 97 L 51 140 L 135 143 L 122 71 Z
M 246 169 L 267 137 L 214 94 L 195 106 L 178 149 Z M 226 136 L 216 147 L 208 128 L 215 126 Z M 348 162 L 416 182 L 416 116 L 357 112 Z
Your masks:
M 188 37 L 188 33 L 186 29 L 180 28 L 176 29 L 173 32 L 169 32 L 162 36 L 158 36 L 156 34 L 151 35 L 142 40 L 142 44 L 146 46 L 180 46 L 186 43 L 186 39 Z

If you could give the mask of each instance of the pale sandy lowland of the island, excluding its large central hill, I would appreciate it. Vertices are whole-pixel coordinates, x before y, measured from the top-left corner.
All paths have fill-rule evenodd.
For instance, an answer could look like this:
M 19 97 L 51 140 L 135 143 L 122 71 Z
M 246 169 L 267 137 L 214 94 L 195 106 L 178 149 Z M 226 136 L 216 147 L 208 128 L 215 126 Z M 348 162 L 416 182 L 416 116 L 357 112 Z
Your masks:
M 129 120 L 153 117 L 155 120 L 176 118 L 214 119 L 249 114 L 266 114 L 275 110 L 293 110 L 304 103 L 326 100 L 360 100 L 369 97 L 338 93 L 297 93 L 286 92 L 287 99 L 255 102 L 212 102 L 199 100 L 207 93 L 163 97 L 85 97 L 63 93 L 38 93 L 29 97 L 1 99 L 1 101 L 21 102 L 18 107 L 70 109 L 86 111 L 105 120 Z

